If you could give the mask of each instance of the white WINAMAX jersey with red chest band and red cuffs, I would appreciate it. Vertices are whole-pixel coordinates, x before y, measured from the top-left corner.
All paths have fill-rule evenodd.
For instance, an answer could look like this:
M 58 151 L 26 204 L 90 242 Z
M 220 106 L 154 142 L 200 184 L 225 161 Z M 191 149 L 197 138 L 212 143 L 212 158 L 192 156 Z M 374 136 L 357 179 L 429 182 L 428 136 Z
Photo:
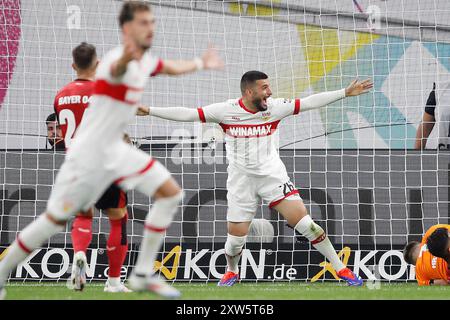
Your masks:
M 278 154 L 280 121 L 300 112 L 300 100 L 267 99 L 267 110 L 253 112 L 242 99 L 198 108 L 202 122 L 218 123 L 225 133 L 230 167 L 256 176 L 286 170 Z

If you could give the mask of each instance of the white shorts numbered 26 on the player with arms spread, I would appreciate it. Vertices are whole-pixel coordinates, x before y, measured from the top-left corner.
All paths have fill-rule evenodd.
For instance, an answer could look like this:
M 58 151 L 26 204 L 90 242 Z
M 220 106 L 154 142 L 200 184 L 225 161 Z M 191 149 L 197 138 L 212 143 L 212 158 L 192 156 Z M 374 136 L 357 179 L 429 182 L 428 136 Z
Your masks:
M 272 208 L 282 200 L 302 200 L 286 173 L 255 177 L 230 168 L 227 180 L 227 221 L 252 221 L 261 199 Z

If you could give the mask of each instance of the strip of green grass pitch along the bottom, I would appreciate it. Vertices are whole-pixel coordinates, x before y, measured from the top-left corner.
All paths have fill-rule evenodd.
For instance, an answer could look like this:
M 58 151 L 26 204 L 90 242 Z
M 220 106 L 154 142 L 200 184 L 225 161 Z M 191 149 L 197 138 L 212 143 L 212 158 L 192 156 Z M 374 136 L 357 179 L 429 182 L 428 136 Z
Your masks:
M 450 287 L 418 287 L 413 283 L 347 287 L 343 283 L 240 283 L 217 287 L 216 283 L 175 284 L 181 299 L 187 300 L 440 300 L 450 299 Z M 158 300 L 152 293 L 105 293 L 103 284 L 88 284 L 83 292 L 69 290 L 64 284 L 11 283 L 7 300 Z

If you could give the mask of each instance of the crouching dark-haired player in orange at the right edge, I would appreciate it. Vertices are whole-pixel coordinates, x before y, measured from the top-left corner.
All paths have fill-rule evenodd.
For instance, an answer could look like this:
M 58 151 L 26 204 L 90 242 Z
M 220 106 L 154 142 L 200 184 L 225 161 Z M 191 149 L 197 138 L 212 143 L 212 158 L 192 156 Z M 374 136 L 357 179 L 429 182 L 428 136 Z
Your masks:
M 448 269 L 448 232 L 450 225 L 437 224 L 427 230 L 421 242 L 411 241 L 403 250 L 405 261 L 416 267 L 416 279 L 419 286 L 448 285 L 450 281 L 450 270 Z M 440 234 L 447 236 L 442 241 Z M 443 250 L 439 250 L 439 244 L 447 244 L 447 255 L 444 258 Z M 441 246 L 442 247 L 442 246 Z M 441 257 L 439 257 L 442 255 Z

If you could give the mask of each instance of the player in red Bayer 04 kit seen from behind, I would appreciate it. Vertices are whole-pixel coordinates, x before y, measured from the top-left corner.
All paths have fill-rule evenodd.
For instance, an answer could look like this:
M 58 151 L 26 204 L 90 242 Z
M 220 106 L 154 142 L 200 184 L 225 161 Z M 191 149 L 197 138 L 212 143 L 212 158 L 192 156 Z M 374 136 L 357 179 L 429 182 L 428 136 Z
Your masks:
M 77 78 L 58 91 L 54 101 L 55 113 L 62 130 L 66 146 L 70 146 L 79 127 L 89 100 L 95 89 L 95 71 L 99 60 L 92 44 L 82 42 L 72 50 L 72 67 Z M 127 194 L 112 184 L 95 203 L 98 210 L 104 210 L 110 222 L 110 232 L 106 245 L 108 255 L 108 280 L 105 292 L 130 292 L 120 282 L 120 273 L 128 252 L 127 241 Z M 92 240 L 93 209 L 80 212 L 72 223 L 71 236 L 74 250 L 72 273 L 69 286 L 83 290 L 86 283 L 86 251 Z

